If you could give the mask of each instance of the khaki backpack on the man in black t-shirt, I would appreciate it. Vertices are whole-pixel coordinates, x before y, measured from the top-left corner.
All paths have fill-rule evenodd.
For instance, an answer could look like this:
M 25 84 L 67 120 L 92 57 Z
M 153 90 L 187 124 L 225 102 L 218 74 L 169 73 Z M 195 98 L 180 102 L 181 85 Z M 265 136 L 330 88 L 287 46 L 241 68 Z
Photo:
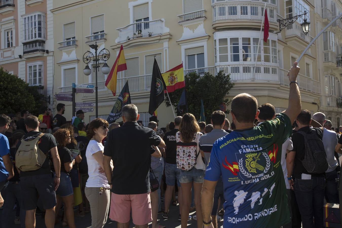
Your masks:
M 21 144 L 15 154 L 15 166 L 20 171 L 35 171 L 41 168 L 46 155 L 38 147 L 39 139 L 44 135 L 41 133 L 37 138 L 26 142 L 21 140 Z

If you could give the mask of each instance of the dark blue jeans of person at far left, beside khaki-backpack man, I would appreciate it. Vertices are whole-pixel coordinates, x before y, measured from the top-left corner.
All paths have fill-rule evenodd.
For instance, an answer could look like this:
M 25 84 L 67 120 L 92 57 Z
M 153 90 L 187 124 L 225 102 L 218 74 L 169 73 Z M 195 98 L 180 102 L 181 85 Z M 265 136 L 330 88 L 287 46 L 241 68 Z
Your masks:
M 25 214 L 26 211 L 22 206 L 22 193 L 20 183 L 18 182 L 8 182 L 3 187 L 1 193 L 3 193 L 3 210 L 1 215 L 1 226 L 14 227 L 14 213 L 13 207 L 16 199 L 18 199 L 20 205 L 20 227 L 25 228 Z M 17 205 L 17 206 L 19 206 Z

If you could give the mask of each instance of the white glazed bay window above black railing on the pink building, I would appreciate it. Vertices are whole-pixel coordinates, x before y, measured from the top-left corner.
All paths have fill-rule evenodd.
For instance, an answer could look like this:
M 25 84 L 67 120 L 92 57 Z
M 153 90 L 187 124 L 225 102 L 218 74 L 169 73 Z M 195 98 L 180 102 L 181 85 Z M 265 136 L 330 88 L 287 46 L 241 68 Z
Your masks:
M 45 40 L 45 14 L 36 13 L 23 17 L 24 41 Z

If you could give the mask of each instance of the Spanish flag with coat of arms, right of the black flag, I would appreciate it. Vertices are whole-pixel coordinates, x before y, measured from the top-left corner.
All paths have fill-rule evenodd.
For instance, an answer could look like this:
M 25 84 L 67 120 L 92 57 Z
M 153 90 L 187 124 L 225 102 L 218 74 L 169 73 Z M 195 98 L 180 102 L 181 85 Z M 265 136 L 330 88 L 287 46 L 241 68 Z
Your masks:
M 185 87 L 183 63 L 169 71 L 166 71 L 165 73 L 162 73 L 161 76 L 165 81 L 167 92 L 171 93 L 177 89 Z M 166 90 L 164 93 L 166 93 Z

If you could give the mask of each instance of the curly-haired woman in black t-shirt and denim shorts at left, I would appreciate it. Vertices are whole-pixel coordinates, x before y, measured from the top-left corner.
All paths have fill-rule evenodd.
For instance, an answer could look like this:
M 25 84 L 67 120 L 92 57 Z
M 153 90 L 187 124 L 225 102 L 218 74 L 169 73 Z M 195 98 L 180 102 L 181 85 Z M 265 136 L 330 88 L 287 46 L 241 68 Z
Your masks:
M 71 152 L 66 145 L 70 143 L 70 131 L 68 129 L 58 129 L 54 136 L 58 143 L 58 155 L 61 160 L 61 176 L 60 185 L 56 190 L 56 221 L 58 216 L 58 211 L 61 207 L 62 201 L 64 203 L 64 214 L 66 214 L 67 224 L 65 222 L 63 226 L 69 226 L 70 228 L 76 228 L 75 218 L 74 218 L 74 191 L 71 184 L 71 179 L 68 172 L 73 169 L 75 160 L 71 158 Z M 53 163 L 52 163 L 53 164 Z M 54 170 L 54 169 L 52 169 Z

